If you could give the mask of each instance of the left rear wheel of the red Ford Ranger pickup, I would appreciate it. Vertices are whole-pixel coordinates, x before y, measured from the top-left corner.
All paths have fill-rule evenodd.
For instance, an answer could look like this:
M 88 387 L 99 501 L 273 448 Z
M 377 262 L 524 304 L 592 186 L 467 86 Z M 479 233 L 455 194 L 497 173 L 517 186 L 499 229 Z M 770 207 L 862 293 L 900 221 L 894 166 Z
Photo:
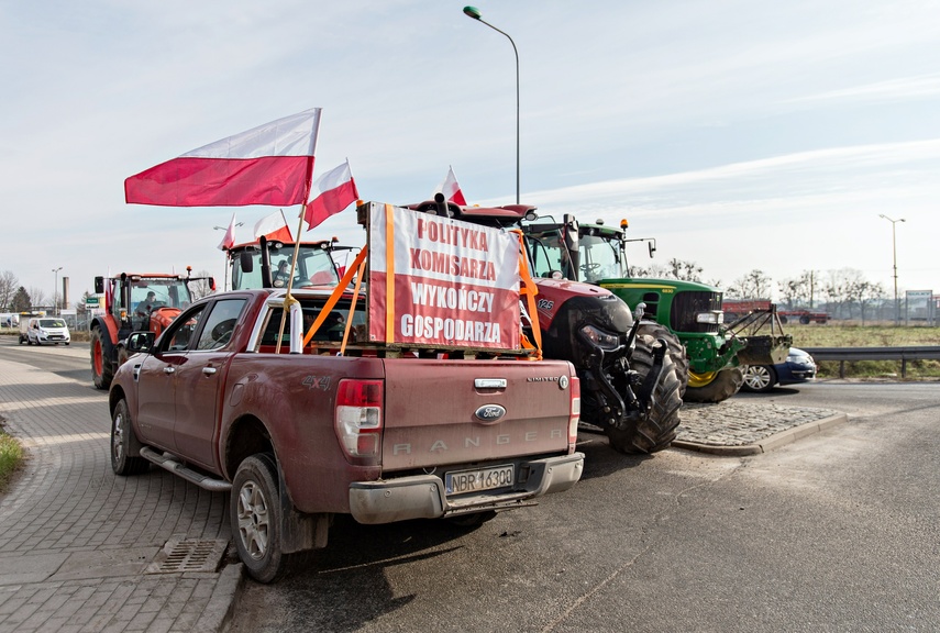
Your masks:
M 273 582 L 297 562 L 283 548 L 280 492 L 277 464 L 268 453 L 246 457 L 232 480 L 230 519 L 235 548 L 248 576 Z M 302 555 L 309 552 L 298 553 Z

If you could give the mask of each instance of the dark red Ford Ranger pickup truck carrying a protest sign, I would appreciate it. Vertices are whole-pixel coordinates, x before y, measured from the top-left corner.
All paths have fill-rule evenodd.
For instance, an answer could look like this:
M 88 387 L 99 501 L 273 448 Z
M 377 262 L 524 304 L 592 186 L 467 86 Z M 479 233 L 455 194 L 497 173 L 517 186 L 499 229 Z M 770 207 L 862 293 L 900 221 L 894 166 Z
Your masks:
M 369 344 L 349 292 L 303 345 L 329 292 L 292 296 L 287 318 L 284 290 L 240 290 L 197 301 L 156 341 L 132 334 L 109 398 L 114 473 L 153 463 L 229 491 L 256 580 L 324 547 L 335 513 L 475 524 L 579 479 L 569 363 Z

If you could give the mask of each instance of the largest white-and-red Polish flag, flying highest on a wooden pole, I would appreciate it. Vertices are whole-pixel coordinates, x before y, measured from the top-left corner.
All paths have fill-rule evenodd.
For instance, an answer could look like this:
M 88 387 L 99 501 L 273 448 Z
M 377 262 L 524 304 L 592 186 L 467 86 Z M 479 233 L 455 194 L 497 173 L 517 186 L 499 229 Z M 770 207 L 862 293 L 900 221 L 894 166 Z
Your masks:
M 320 108 L 210 143 L 124 180 L 129 203 L 283 207 L 306 202 Z

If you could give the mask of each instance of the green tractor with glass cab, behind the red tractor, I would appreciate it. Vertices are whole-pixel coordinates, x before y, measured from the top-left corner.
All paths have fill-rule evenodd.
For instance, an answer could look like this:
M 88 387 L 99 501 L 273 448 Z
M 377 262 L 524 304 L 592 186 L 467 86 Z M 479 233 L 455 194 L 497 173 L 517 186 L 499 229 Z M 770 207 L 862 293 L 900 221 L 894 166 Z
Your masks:
M 783 362 L 793 343 L 784 335 L 773 310 L 723 323 L 721 291 L 694 281 L 630 276 L 626 245 L 646 242 L 652 257 L 655 240 L 628 240 L 621 227 L 579 224 L 564 215 L 526 223 L 534 275 L 597 284 L 631 308 L 645 304 L 641 333 L 664 338 L 688 402 L 721 402 L 738 392 L 742 365 Z M 770 329 L 770 335 L 756 332 Z

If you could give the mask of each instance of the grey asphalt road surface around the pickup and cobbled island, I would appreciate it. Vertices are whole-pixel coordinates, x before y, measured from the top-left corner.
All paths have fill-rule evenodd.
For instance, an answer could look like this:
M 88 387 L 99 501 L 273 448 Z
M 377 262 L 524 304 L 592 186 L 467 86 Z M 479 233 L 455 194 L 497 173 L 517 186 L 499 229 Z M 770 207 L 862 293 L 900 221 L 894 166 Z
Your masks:
M 87 354 L 0 342 L 90 386 Z M 575 488 L 476 531 L 338 518 L 309 570 L 246 581 L 229 631 L 937 631 L 940 384 L 736 398 L 849 423 L 752 457 L 584 434 Z

